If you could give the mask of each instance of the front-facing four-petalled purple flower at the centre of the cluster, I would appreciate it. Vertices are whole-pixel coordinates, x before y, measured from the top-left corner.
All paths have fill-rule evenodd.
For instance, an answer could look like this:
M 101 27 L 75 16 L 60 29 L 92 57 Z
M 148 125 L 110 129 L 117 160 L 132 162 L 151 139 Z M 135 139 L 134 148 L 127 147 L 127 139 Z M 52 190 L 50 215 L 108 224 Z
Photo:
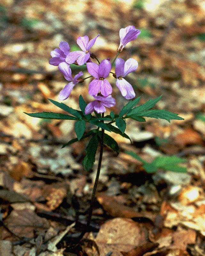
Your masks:
M 111 63 L 109 60 L 103 60 L 99 64 L 89 62 L 87 63 L 88 72 L 94 76 L 96 79 L 92 80 L 89 84 L 88 92 L 89 94 L 96 95 L 99 90 L 103 96 L 108 96 L 112 93 L 112 86 L 110 83 L 105 79 L 111 70 Z

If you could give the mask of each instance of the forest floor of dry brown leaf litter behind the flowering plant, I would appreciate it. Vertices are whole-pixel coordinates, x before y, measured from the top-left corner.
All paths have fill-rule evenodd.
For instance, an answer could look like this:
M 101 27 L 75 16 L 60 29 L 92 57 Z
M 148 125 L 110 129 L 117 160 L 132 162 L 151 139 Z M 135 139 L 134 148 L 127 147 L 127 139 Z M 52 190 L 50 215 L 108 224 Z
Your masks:
M 78 36 L 100 34 L 92 51 L 113 60 L 119 30 L 128 25 L 141 34 L 119 57 L 138 60 L 126 79 L 139 103 L 162 95 L 156 107 L 184 120 L 131 120 L 132 144 L 111 135 L 120 153 L 104 147 L 91 227 L 73 248 L 85 227 L 99 151 L 86 172 L 87 139 L 61 149 L 76 137 L 74 121 L 23 112 L 60 112 L 48 98 L 59 101 L 67 82 L 48 61 L 61 41 L 75 51 Z M 0 49 L 0 255 L 205 256 L 205 2 L 1 0 Z M 79 69 L 86 73 L 72 66 L 75 74 Z M 78 109 L 80 94 L 91 102 L 88 80 L 64 103 Z M 114 80 L 112 110 L 119 113 L 127 100 Z M 148 173 L 127 151 L 163 163 Z M 178 161 L 175 172 L 169 156 Z

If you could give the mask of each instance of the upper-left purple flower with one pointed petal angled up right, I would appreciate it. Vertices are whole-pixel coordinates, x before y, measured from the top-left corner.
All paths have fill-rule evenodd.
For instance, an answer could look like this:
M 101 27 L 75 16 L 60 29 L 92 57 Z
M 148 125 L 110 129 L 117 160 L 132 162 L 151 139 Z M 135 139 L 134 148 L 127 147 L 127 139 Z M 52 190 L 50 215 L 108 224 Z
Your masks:
M 74 63 L 75 60 L 77 60 L 78 65 L 81 66 L 85 64 L 85 62 L 90 58 L 90 55 L 91 55 L 90 49 L 93 46 L 93 44 L 95 44 L 95 41 L 98 36 L 91 39 L 90 42 L 88 42 L 89 41 L 88 36 L 83 36 L 83 37 L 79 36 L 77 38 L 77 44 L 80 46 L 80 48 L 83 51 L 70 52 L 66 57 L 66 62 L 71 64 L 71 63 Z

